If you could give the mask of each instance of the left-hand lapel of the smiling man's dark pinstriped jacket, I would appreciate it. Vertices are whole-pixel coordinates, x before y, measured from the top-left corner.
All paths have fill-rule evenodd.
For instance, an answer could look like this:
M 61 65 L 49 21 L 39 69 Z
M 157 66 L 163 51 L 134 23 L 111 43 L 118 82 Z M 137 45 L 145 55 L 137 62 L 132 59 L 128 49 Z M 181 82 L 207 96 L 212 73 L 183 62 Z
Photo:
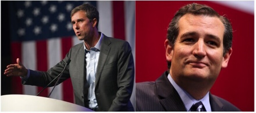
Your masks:
M 178 92 L 167 78 L 166 71 L 156 80 L 157 94 L 160 97 L 160 103 L 166 111 L 186 111 L 186 108 L 179 97 Z

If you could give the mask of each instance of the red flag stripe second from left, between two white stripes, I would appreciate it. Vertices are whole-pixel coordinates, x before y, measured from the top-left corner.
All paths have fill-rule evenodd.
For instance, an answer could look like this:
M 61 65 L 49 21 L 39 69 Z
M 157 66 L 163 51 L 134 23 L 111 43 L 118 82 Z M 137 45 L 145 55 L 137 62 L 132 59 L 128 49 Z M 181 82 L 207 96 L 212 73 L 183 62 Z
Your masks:
M 37 59 L 37 70 L 38 71 L 47 71 L 47 42 L 46 40 L 36 42 L 36 59 Z M 40 92 L 43 88 L 37 87 L 37 93 Z M 45 89 L 40 96 L 47 97 L 48 89 Z

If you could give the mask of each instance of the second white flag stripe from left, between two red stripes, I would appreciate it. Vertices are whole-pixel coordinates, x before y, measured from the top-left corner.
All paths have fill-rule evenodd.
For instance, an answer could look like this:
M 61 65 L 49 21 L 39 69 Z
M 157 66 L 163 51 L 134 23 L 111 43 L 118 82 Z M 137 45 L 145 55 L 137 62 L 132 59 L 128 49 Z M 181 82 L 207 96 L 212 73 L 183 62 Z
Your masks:
M 60 38 L 51 38 L 47 40 L 47 55 L 48 55 L 48 66 L 47 70 L 55 66 L 61 59 L 61 39 Z M 48 88 L 48 93 L 51 92 L 53 87 Z M 49 95 L 49 94 L 48 94 Z M 56 86 L 51 93 L 50 98 L 63 100 L 62 96 L 62 83 Z

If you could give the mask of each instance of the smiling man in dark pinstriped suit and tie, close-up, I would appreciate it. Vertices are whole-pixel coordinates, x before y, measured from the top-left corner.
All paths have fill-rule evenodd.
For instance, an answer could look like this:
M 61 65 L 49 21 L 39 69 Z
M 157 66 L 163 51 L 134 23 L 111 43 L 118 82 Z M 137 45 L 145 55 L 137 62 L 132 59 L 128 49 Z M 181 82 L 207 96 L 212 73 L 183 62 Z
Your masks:
M 165 41 L 169 70 L 155 82 L 136 83 L 136 111 L 240 111 L 209 92 L 231 47 L 227 18 L 197 3 L 180 8 Z

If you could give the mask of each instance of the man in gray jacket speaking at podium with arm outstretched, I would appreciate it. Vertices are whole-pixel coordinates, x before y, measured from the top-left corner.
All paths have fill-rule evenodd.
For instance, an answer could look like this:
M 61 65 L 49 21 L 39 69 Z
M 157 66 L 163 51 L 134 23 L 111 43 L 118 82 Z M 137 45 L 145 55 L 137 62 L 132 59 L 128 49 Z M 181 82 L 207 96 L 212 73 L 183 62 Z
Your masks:
M 71 78 L 75 103 L 94 111 L 134 111 L 130 102 L 134 84 L 134 62 L 128 42 L 98 32 L 99 12 L 89 4 L 74 8 L 71 23 L 79 40 L 66 57 L 47 72 L 7 66 L 7 76 L 22 77 L 22 84 L 45 87 L 64 69 L 57 84 Z M 56 82 L 56 80 L 55 80 Z M 54 86 L 52 83 L 50 86 Z

